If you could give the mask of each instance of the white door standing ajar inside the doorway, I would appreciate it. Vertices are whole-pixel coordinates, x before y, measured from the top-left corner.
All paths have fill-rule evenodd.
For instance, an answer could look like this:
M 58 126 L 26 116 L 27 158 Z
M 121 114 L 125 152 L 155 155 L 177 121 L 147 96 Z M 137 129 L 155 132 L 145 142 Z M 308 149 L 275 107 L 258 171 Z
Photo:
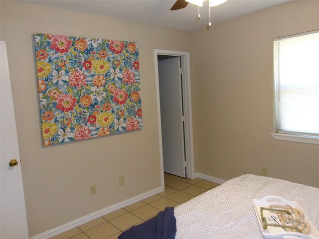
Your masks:
M 180 58 L 158 61 L 164 172 L 185 177 Z

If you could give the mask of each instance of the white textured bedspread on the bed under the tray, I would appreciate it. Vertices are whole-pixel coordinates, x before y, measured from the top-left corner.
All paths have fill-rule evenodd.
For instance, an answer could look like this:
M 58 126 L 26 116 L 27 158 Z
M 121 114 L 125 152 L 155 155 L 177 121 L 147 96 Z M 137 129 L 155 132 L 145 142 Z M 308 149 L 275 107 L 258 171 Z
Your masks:
M 174 210 L 175 239 L 263 239 L 252 199 L 297 201 L 319 230 L 319 189 L 252 174 L 231 179 Z

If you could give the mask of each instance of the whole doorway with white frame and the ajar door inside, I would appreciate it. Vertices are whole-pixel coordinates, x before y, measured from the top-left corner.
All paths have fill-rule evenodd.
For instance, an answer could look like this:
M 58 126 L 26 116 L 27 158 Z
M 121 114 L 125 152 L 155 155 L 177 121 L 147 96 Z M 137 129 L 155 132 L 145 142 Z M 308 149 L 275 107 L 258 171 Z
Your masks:
M 161 170 L 162 172 L 165 171 L 177 176 L 193 178 L 194 163 L 189 53 L 155 49 L 154 58 Z M 170 73 L 171 71 L 173 72 Z M 163 78 L 163 76 L 166 80 L 160 79 Z M 170 84 L 173 79 L 171 77 L 175 79 L 173 84 Z M 171 107 L 173 109 L 171 109 Z M 165 114 L 167 111 L 175 112 L 176 114 L 167 115 Z M 172 122 L 173 119 L 175 121 L 174 123 Z M 178 168 L 172 169 L 171 167 Z M 162 173 L 162 185 L 164 185 L 163 178 Z

